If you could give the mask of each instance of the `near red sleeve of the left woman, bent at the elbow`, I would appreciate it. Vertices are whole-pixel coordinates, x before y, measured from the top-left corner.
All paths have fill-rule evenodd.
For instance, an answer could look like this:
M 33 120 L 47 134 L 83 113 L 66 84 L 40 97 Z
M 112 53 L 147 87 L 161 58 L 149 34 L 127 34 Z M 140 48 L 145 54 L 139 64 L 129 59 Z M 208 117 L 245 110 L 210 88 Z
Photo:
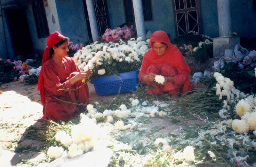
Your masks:
M 52 95 L 63 95 L 64 93 L 66 93 L 66 91 L 59 90 L 59 89 L 72 88 L 69 83 L 69 80 L 63 83 L 60 83 L 59 77 L 54 72 L 54 69 L 51 68 L 50 66 L 44 66 L 43 77 L 44 77 L 44 88 L 46 91 L 48 91 Z

